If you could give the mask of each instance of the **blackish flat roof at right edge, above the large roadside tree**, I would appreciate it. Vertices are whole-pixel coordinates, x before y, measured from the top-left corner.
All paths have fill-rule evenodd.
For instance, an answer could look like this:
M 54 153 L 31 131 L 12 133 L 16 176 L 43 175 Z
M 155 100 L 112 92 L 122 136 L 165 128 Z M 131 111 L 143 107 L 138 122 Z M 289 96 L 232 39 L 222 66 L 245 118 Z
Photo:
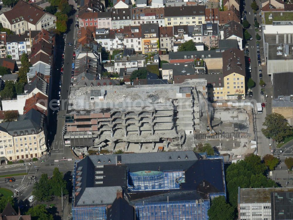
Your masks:
M 280 72 L 273 74 L 273 98 L 293 95 L 293 72 Z

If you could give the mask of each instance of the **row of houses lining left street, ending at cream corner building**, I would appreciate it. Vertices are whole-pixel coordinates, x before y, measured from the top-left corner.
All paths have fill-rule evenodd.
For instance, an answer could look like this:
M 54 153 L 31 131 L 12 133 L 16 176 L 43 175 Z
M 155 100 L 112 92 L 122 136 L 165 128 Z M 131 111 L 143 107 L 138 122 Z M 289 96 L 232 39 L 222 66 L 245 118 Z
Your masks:
M 18 111 L 19 116 L 17 121 L 0 123 L 0 155 L 6 158 L 6 162 L 41 158 L 47 153 L 46 125 L 52 91 L 52 66 L 56 56 L 55 36 L 45 29 L 28 31 L 13 38 L 7 36 L 6 45 L 10 45 L 7 50 L 11 55 L 16 48 L 24 50 L 23 53 L 30 50 L 32 66 L 27 73 L 28 84 L 24 86 L 24 94 L 1 101 L 3 111 Z

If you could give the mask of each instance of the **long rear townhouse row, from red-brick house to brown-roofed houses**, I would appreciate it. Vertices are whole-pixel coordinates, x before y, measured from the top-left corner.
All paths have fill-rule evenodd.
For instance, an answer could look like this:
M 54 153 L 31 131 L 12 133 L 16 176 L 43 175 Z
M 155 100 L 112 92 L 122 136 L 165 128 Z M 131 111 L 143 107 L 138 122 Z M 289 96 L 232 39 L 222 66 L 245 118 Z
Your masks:
M 205 23 L 225 24 L 235 20 L 240 23 L 235 11 L 219 11 L 197 6 L 168 6 L 159 8 L 111 8 L 93 11 L 87 7 L 79 11 L 80 27 L 121 29 L 129 25 L 158 23 L 160 27 L 176 25 L 195 26 Z

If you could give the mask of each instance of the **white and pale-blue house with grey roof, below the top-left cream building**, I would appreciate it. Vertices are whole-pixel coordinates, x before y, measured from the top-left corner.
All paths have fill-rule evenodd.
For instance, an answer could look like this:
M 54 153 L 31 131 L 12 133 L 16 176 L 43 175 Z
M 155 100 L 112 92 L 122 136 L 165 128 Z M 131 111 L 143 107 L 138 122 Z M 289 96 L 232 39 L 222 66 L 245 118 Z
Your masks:
M 20 60 L 23 53 L 27 53 L 26 50 L 25 35 L 8 35 L 6 39 L 7 54 L 12 57 L 13 60 Z

